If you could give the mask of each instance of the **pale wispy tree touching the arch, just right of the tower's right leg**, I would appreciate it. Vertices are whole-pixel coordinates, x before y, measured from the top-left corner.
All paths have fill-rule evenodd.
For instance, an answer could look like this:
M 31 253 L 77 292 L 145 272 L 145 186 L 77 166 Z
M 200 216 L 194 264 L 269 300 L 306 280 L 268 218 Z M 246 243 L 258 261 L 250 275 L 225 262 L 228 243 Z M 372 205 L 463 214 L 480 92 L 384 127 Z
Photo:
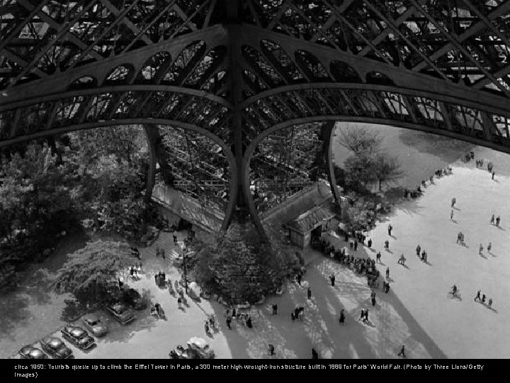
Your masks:
M 382 143 L 378 133 L 370 131 L 365 126 L 340 124 L 336 127 L 335 133 L 339 136 L 339 144 L 355 155 L 376 152 Z

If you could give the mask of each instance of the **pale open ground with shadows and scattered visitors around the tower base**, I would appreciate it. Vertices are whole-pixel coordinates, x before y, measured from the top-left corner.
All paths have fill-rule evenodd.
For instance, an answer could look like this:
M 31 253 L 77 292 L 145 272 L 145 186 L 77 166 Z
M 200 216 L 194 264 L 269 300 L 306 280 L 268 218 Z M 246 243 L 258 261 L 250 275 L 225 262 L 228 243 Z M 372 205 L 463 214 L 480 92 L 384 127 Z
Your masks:
M 392 144 L 397 143 L 399 133 L 391 129 L 387 132 L 395 137 Z M 399 156 L 418 156 L 421 159 L 416 166 L 425 167 L 419 169 L 419 177 L 414 171 L 407 172 L 410 175 L 405 182 L 409 185 L 428 178 L 436 167 L 444 167 L 450 160 L 441 153 L 427 155 L 423 150 L 404 146 L 401 145 Z M 459 154 L 448 152 L 457 158 Z M 134 323 L 120 326 L 102 314 L 111 333 L 98 340 L 98 347 L 88 354 L 72 349 L 77 357 L 164 358 L 176 345 L 198 335 L 209 340 L 219 358 L 269 358 L 269 343 L 275 346 L 277 358 L 310 358 L 312 348 L 322 357 L 391 358 L 397 357 L 403 344 L 409 358 L 510 357 L 510 260 L 506 257 L 510 250 L 510 204 L 506 200 L 510 159 L 484 148 L 475 148 L 475 155 L 485 158 L 485 163 L 487 159 L 494 162 L 494 181 L 486 170 L 476 169 L 474 162 L 455 162 L 453 174 L 434 179 L 420 199 L 395 206 L 391 216 L 370 233 L 373 250 L 382 252 L 384 265 L 380 265 L 380 270 L 384 274 L 390 267 L 392 279 L 389 294 L 380 289 L 376 292 L 376 306 L 370 304 L 370 289 L 364 277 L 308 250 L 304 280 L 312 289 L 312 299 L 307 299 L 305 284 L 288 282 L 282 296 L 268 297 L 250 309 L 254 328 L 234 322 L 229 330 L 225 308 L 216 301 L 196 303 L 188 299 L 189 306 L 181 311 L 176 299 L 154 284 L 154 273 L 159 270 L 172 280 L 179 277 L 179 270 L 155 257 L 157 245 L 166 248 L 167 254 L 173 246 L 169 235 L 162 233 L 157 243 L 141 251 L 145 275 L 130 284 L 159 301 L 167 320 L 155 320 L 145 311 Z M 403 185 L 407 186 L 405 182 Z M 454 196 L 458 209 L 454 210 L 455 221 L 450 221 L 450 200 Z M 489 225 L 493 213 L 502 217 L 501 228 Z M 388 223 L 394 228 L 394 238 L 387 235 Z M 465 234 L 466 246 L 455 243 L 458 231 Z M 391 252 L 383 250 L 385 239 L 390 240 Z M 50 274 L 55 272 L 67 253 L 81 247 L 82 241 L 83 238 L 64 240 L 55 257 L 35 269 L 43 267 Z M 489 241 L 492 252 L 484 250 L 482 256 L 478 255 L 480 243 L 487 248 Z M 418 243 L 429 255 L 428 264 L 414 255 Z M 407 267 L 397 265 L 402 253 L 407 257 Z M 358 255 L 375 257 L 375 252 L 361 247 Z M 331 273 L 336 275 L 334 287 L 329 284 Z M 2 358 L 55 333 L 64 324 L 60 314 L 68 296 L 55 296 L 44 284 L 30 287 L 29 281 L 30 278 L 16 292 L 0 298 Z M 447 296 L 454 283 L 460 287 L 460 299 Z M 473 301 L 477 289 L 493 299 L 493 309 Z M 278 304 L 277 316 L 268 309 L 273 303 Z M 290 312 L 295 306 L 305 307 L 303 321 L 291 321 Z M 369 322 L 365 324 L 358 321 L 362 308 L 369 309 Z M 347 314 L 345 326 L 338 322 L 341 309 Z M 218 318 L 220 331 L 208 338 L 203 321 L 210 313 Z

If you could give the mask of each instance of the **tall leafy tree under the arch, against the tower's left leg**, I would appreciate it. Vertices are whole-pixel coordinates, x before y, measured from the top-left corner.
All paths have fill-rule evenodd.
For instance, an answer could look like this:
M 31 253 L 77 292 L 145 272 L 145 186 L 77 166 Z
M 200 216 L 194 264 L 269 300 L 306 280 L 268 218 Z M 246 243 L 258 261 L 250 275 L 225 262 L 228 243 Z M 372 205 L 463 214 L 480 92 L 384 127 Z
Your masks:
M 147 143 L 139 126 L 81 131 L 69 135 L 69 161 L 77 165 L 73 189 L 81 216 L 98 231 L 140 239 L 146 231 L 143 191 Z M 85 186 L 84 186 L 85 185 Z

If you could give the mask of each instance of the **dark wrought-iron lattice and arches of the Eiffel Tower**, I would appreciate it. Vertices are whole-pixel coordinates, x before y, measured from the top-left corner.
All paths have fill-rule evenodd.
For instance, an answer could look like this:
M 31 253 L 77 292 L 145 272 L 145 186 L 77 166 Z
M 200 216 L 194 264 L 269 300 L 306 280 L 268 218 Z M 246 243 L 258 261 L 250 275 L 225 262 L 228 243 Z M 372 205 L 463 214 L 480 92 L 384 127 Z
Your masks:
M 509 15 L 509 0 L 0 0 L 0 146 L 128 123 L 204 135 L 229 178 L 175 146 L 172 186 L 208 189 L 226 222 L 259 214 L 250 171 L 281 196 L 310 181 L 295 166 L 317 149 L 295 138 L 309 123 L 384 123 L 510 153 Z

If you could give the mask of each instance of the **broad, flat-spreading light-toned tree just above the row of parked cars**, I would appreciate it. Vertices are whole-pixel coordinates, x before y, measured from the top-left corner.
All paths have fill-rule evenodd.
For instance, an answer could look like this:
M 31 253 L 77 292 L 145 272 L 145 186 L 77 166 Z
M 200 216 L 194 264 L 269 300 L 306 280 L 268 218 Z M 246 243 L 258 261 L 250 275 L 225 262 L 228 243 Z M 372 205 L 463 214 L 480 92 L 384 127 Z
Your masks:
M 132 265 L 126 243 L 97 240 L 69 256 L 52 287 L 57 294 L 72 293 L 81 304 L 103 301 L 119 272 Z

